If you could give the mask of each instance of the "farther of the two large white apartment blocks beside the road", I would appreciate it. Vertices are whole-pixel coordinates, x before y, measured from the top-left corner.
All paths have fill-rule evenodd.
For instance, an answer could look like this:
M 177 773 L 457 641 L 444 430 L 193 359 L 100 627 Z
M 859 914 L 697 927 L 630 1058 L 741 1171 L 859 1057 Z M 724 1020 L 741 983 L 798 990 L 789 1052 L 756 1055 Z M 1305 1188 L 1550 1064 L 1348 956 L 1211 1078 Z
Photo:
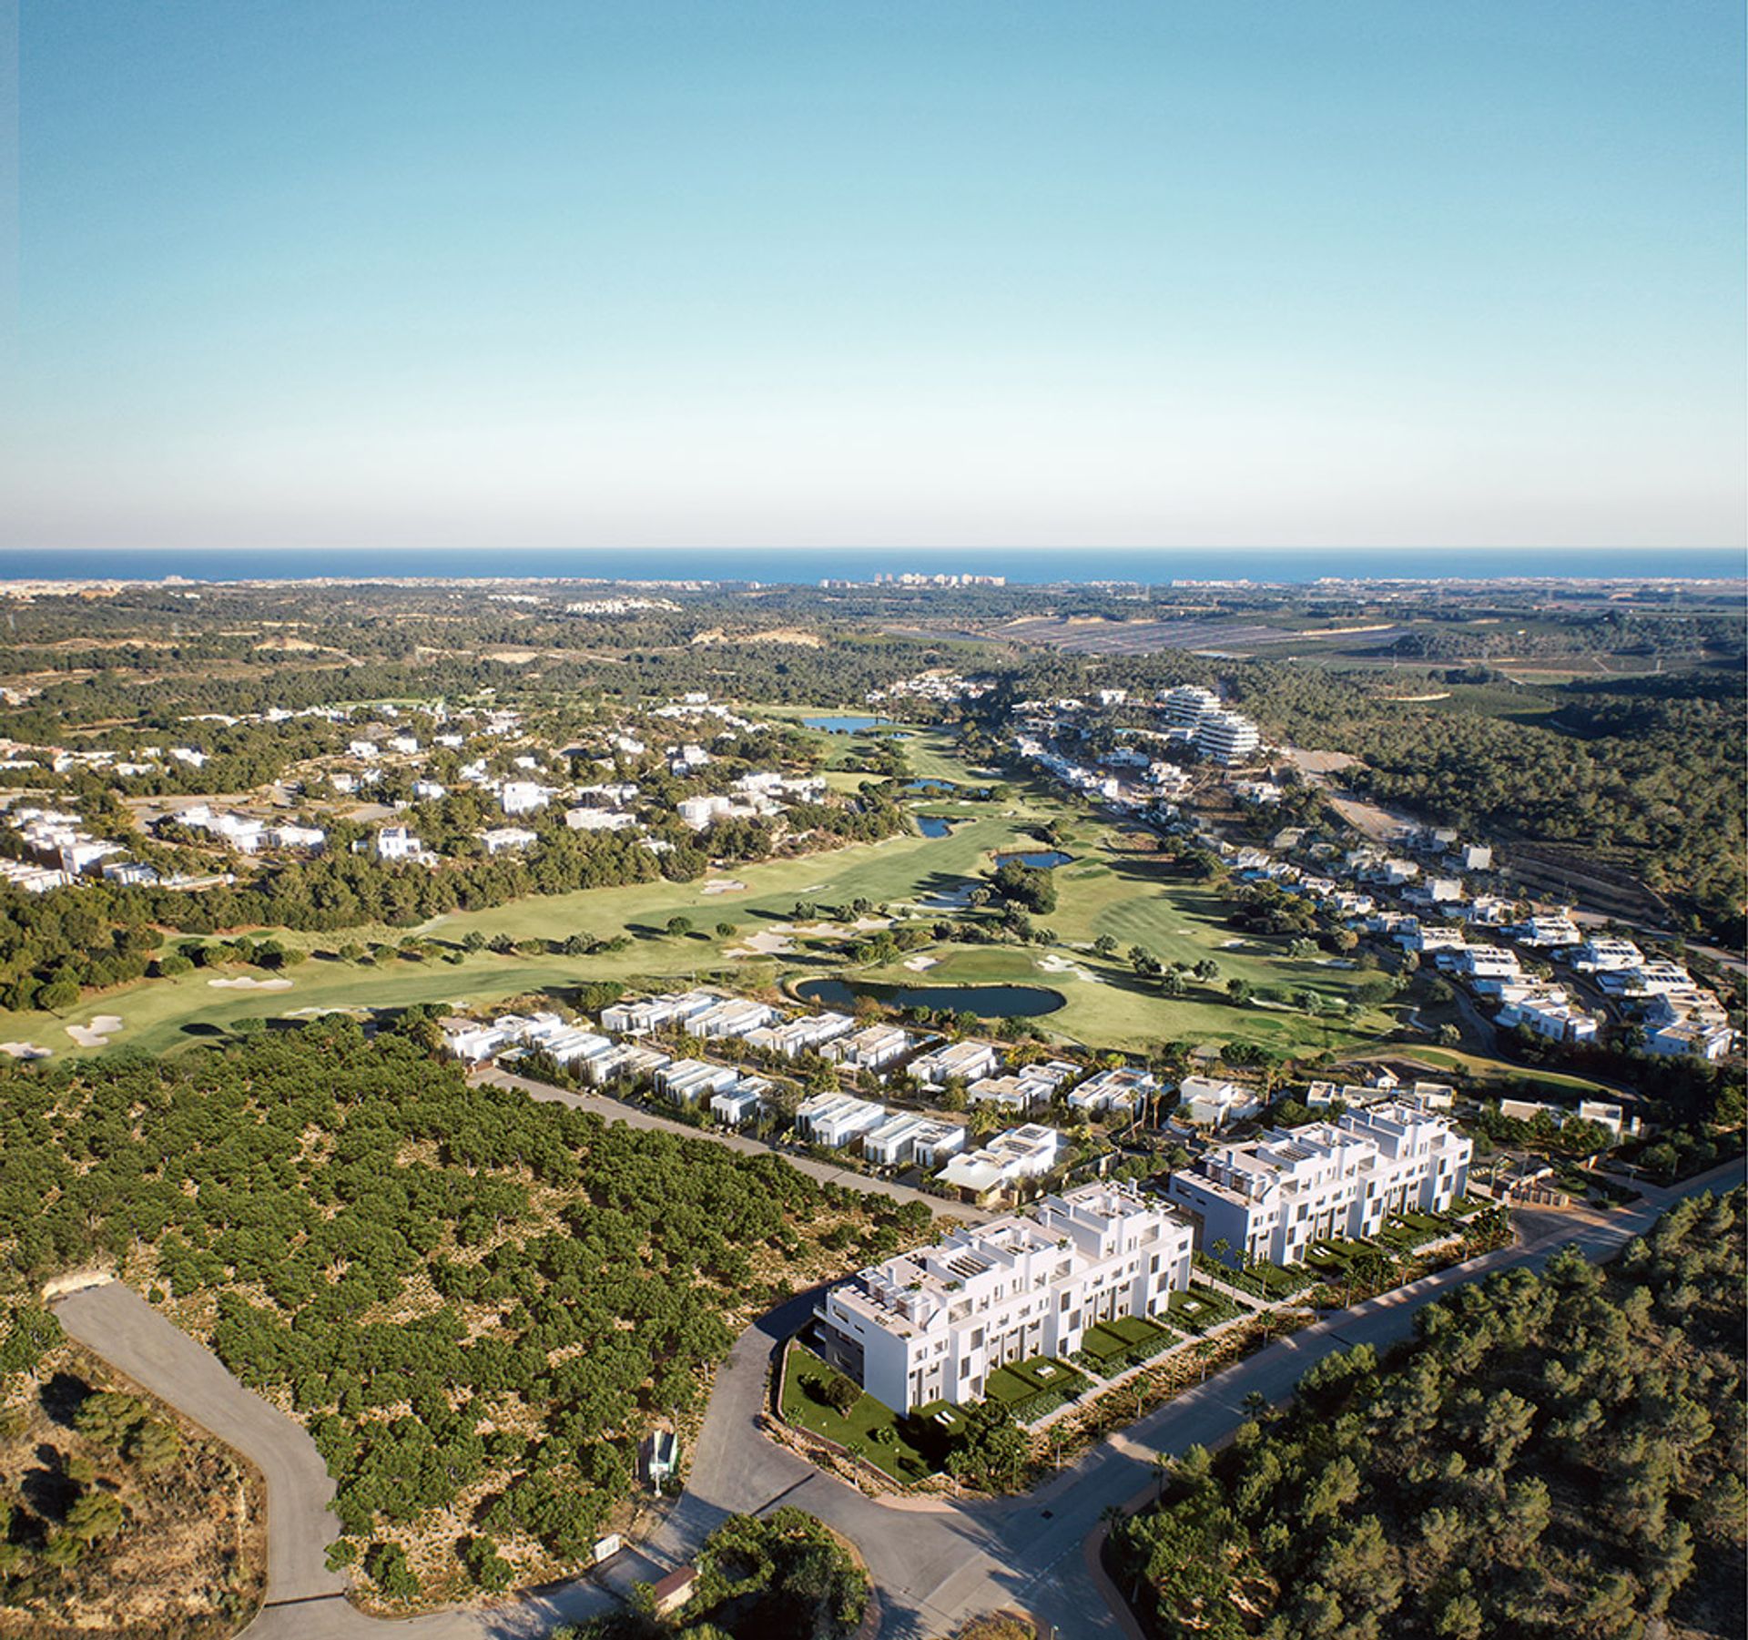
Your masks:
M 1204 1252 L 1295 1264 L 1313 1241 L 1376 1234 L 1388 1213 L 1444 1212 L 1468 1189 L 1472 1156 L 1446 1117 L 1390 1101 L 1218 1145 L 1173 1173 L 1169 1194 L 1196 1215 Z

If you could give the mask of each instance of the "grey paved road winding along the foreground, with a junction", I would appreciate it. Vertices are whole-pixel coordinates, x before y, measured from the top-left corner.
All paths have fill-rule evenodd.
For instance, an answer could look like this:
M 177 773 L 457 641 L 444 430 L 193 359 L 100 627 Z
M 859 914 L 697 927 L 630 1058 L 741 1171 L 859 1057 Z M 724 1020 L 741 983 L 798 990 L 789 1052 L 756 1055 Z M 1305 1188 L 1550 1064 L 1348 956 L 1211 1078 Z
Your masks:
M 178 1332 L 145 1299 L 115 1283 L 80 1289 L 56 1304 L 66 1332 L 128 1376 L 175 1404 L 245 1456 L 267 1479 L 267 1598 L 246 1640 L 533 1640 L 554 1624 L 608 1610 L 615 1593 L 696 1556 L 729 1514 L 795 1504 L 850 1537 L 881 1595 L 883 1640 L 932 1640 L 998 1607 L 1030 1612 L 1047 1635 L 1129 1637 L 1126 1610 L 1094 1570 L 1091 1549 L 1110 1505 L 1138 1507 L 1155 1483 L 1154 1456 L 1213 1444 L 1246 1416 L 1252 1392 L 1287 1399 L 1321 1357 L 1369 1343 L 1388 1346 L 1411 1334 L 1414 1313 L 1446 1292 L 1498 1269 L 1542 1268 L 1575 1243 L 1605 1259 L 1647 1229 L 1683 1196 L 1743 1182 L 1743 1163 L 1713 1168 L 1671 1191 L 1645 1192 L 1631 1208 L 1523 1212 L 1519 1241 L 1344 1310 L 1278 1339 L 1266 1350 L 1178 1395 L 1155 1413 L 1086 1453 L 1021 1498 L 965 1502 L 869 1498 L 776 1446 L 759 1428 L 771 1360 L 813 1310 L 801 1294 L 773 1310 L 736 1341 L 717 1372 L 692 1456 L 687 1490 L 652 1539 L 621 1554 L 605 1575 L 526 1591 L 491 1607 L 397 1621 L 369 1617 L 343 1595 L 344 1579 L 325 1570 L 337 1537 L 329 1512 L 334 1483 L 308 1432 L 245 1390 L 201 1345 Z

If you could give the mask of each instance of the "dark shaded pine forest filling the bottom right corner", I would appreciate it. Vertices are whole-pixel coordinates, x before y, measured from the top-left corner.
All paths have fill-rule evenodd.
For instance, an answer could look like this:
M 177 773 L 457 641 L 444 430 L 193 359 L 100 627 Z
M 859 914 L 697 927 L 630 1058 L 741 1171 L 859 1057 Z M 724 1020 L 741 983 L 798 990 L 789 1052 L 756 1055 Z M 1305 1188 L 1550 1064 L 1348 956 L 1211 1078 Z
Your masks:
M 1192 1448 L 1110 1556 L 1152 1633 L 1239 1640 L 1743 1631 L 1745 1199 L 1666 1213 L 1334 1355 L 1218 1456 Z

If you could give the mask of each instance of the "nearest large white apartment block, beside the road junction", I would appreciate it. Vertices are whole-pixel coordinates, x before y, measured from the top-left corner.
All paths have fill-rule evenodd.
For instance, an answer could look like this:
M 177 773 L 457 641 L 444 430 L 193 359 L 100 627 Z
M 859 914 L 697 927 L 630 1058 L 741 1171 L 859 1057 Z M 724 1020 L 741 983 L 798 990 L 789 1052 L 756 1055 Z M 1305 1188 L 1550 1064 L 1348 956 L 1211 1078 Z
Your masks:
M 1192 1227 L 1127 1184 L 1038 1203 L 1037 1219 L 953 1231 L 834 1287 L 822 1353 L 898 1413 L 965 1404 L 998 1367 L 1072 1355 L 1089 1327 L 1162 1315 L 1189 1285 Z

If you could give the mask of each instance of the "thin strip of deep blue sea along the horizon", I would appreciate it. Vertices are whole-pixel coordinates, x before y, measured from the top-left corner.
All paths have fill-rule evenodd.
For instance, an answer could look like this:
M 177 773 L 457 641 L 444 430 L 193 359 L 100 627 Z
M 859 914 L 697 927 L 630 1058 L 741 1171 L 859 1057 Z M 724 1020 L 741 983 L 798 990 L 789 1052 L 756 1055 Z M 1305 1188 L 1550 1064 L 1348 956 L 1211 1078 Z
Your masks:
M 1257 580 L 1482 580 L 1549 577 L 1739 577 L 1732 547 L 556 547 L 489 551 L 411 547 L 255 549 L 5 549 L 0 580 L 757 580 L 816 584 L 876 575 L 1005 575 L 1010 582 Z

